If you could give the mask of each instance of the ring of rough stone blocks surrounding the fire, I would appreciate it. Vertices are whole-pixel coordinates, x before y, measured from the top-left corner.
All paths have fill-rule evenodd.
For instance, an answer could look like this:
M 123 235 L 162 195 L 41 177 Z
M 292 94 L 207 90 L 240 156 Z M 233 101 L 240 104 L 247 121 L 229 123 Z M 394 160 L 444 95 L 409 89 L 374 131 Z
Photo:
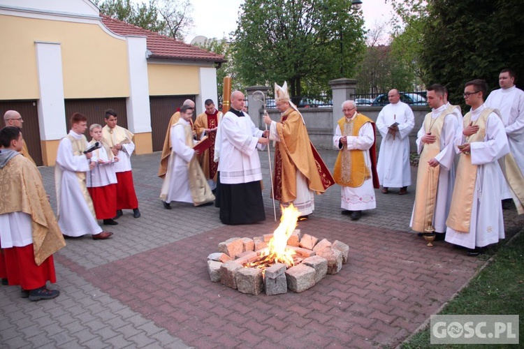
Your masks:
M 335 240 L 319 241 L 311 235 L 300 235 L 296 229 L 286 248 L 296 251 L 296 265 L 276 263 L 265 269 L 244 267 L 247 262 L 257 260 L 263 248 L 268 246 L 272 234 L 261 237 L 233 237 L 219 244 L 219 252 L 208 255 L 208 272 L 212 282 L 220 282 L 230 288 L 249 295 L 279 295 L 287 290 L 303 292 L 321 281 L 326 274 L 337 274 L 347 263 L 349 246 Z

